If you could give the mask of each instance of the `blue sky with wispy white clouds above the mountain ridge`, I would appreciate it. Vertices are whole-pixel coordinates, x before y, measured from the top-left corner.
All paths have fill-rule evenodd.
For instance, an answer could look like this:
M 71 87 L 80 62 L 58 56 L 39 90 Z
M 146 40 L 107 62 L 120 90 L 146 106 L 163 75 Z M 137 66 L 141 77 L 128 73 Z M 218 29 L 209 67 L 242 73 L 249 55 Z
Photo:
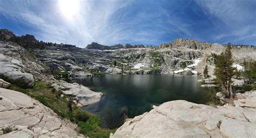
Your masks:
M 256 1 L 0 0 L 0 28 L 79 47 L 177 38 L 256 45 Z

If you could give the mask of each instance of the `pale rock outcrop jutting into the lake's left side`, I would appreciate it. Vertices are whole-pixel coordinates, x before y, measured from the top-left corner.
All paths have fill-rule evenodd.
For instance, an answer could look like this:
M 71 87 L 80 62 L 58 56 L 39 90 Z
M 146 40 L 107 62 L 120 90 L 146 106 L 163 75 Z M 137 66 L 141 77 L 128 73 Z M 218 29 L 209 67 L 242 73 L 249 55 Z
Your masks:
M 92 103 L 99 102 L 103 93 L 96 93 L 91 91 L 89 88 L 77 83 L 67 83 L 65 81 L 59 81 L 52 84 L 57 90 L 63 91 L 64 94 L 70 94 L 75 96 L 77 107 L 83 107 Z

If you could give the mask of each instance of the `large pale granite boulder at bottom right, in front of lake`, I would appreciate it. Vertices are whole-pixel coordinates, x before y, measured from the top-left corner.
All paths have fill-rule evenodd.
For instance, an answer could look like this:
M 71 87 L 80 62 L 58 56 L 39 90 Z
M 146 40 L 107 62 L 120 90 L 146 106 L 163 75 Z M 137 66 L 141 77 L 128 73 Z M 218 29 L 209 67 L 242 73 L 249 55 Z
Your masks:
M 240 107 L 165 102 L 127 119 L 111 137 L 255 137 L 256 110 L 251 108 L 255 97 L 256 91 L 246 93 L 247 104 Z

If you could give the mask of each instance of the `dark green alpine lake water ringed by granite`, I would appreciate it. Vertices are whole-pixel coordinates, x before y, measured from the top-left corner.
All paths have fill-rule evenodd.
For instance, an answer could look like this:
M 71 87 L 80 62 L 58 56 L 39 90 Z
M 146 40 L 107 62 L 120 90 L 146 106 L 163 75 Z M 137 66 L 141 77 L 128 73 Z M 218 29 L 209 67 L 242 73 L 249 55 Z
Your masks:
M 104 93 L 99 103 L 83 107 L 85 111 L 99 115 L 102 126 L 116 128 L 125 118 L 143 114 L 152 105 L 172 100 L 187 100 L 206 103 L 210 100 L 213 88 L 200 87 L 197 75 L 98 75 L 75 78 L 95 92 Z

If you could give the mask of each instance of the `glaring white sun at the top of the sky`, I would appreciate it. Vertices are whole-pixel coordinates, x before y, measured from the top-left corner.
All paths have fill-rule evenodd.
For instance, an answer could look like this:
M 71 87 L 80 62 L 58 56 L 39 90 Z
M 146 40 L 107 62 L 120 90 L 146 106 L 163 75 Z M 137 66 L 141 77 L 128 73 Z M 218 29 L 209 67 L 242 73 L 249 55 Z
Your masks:
M 59 10 L 63 16 L 68 19 L 73 19 L 79 12 L 79 0 L 59 0 Z

